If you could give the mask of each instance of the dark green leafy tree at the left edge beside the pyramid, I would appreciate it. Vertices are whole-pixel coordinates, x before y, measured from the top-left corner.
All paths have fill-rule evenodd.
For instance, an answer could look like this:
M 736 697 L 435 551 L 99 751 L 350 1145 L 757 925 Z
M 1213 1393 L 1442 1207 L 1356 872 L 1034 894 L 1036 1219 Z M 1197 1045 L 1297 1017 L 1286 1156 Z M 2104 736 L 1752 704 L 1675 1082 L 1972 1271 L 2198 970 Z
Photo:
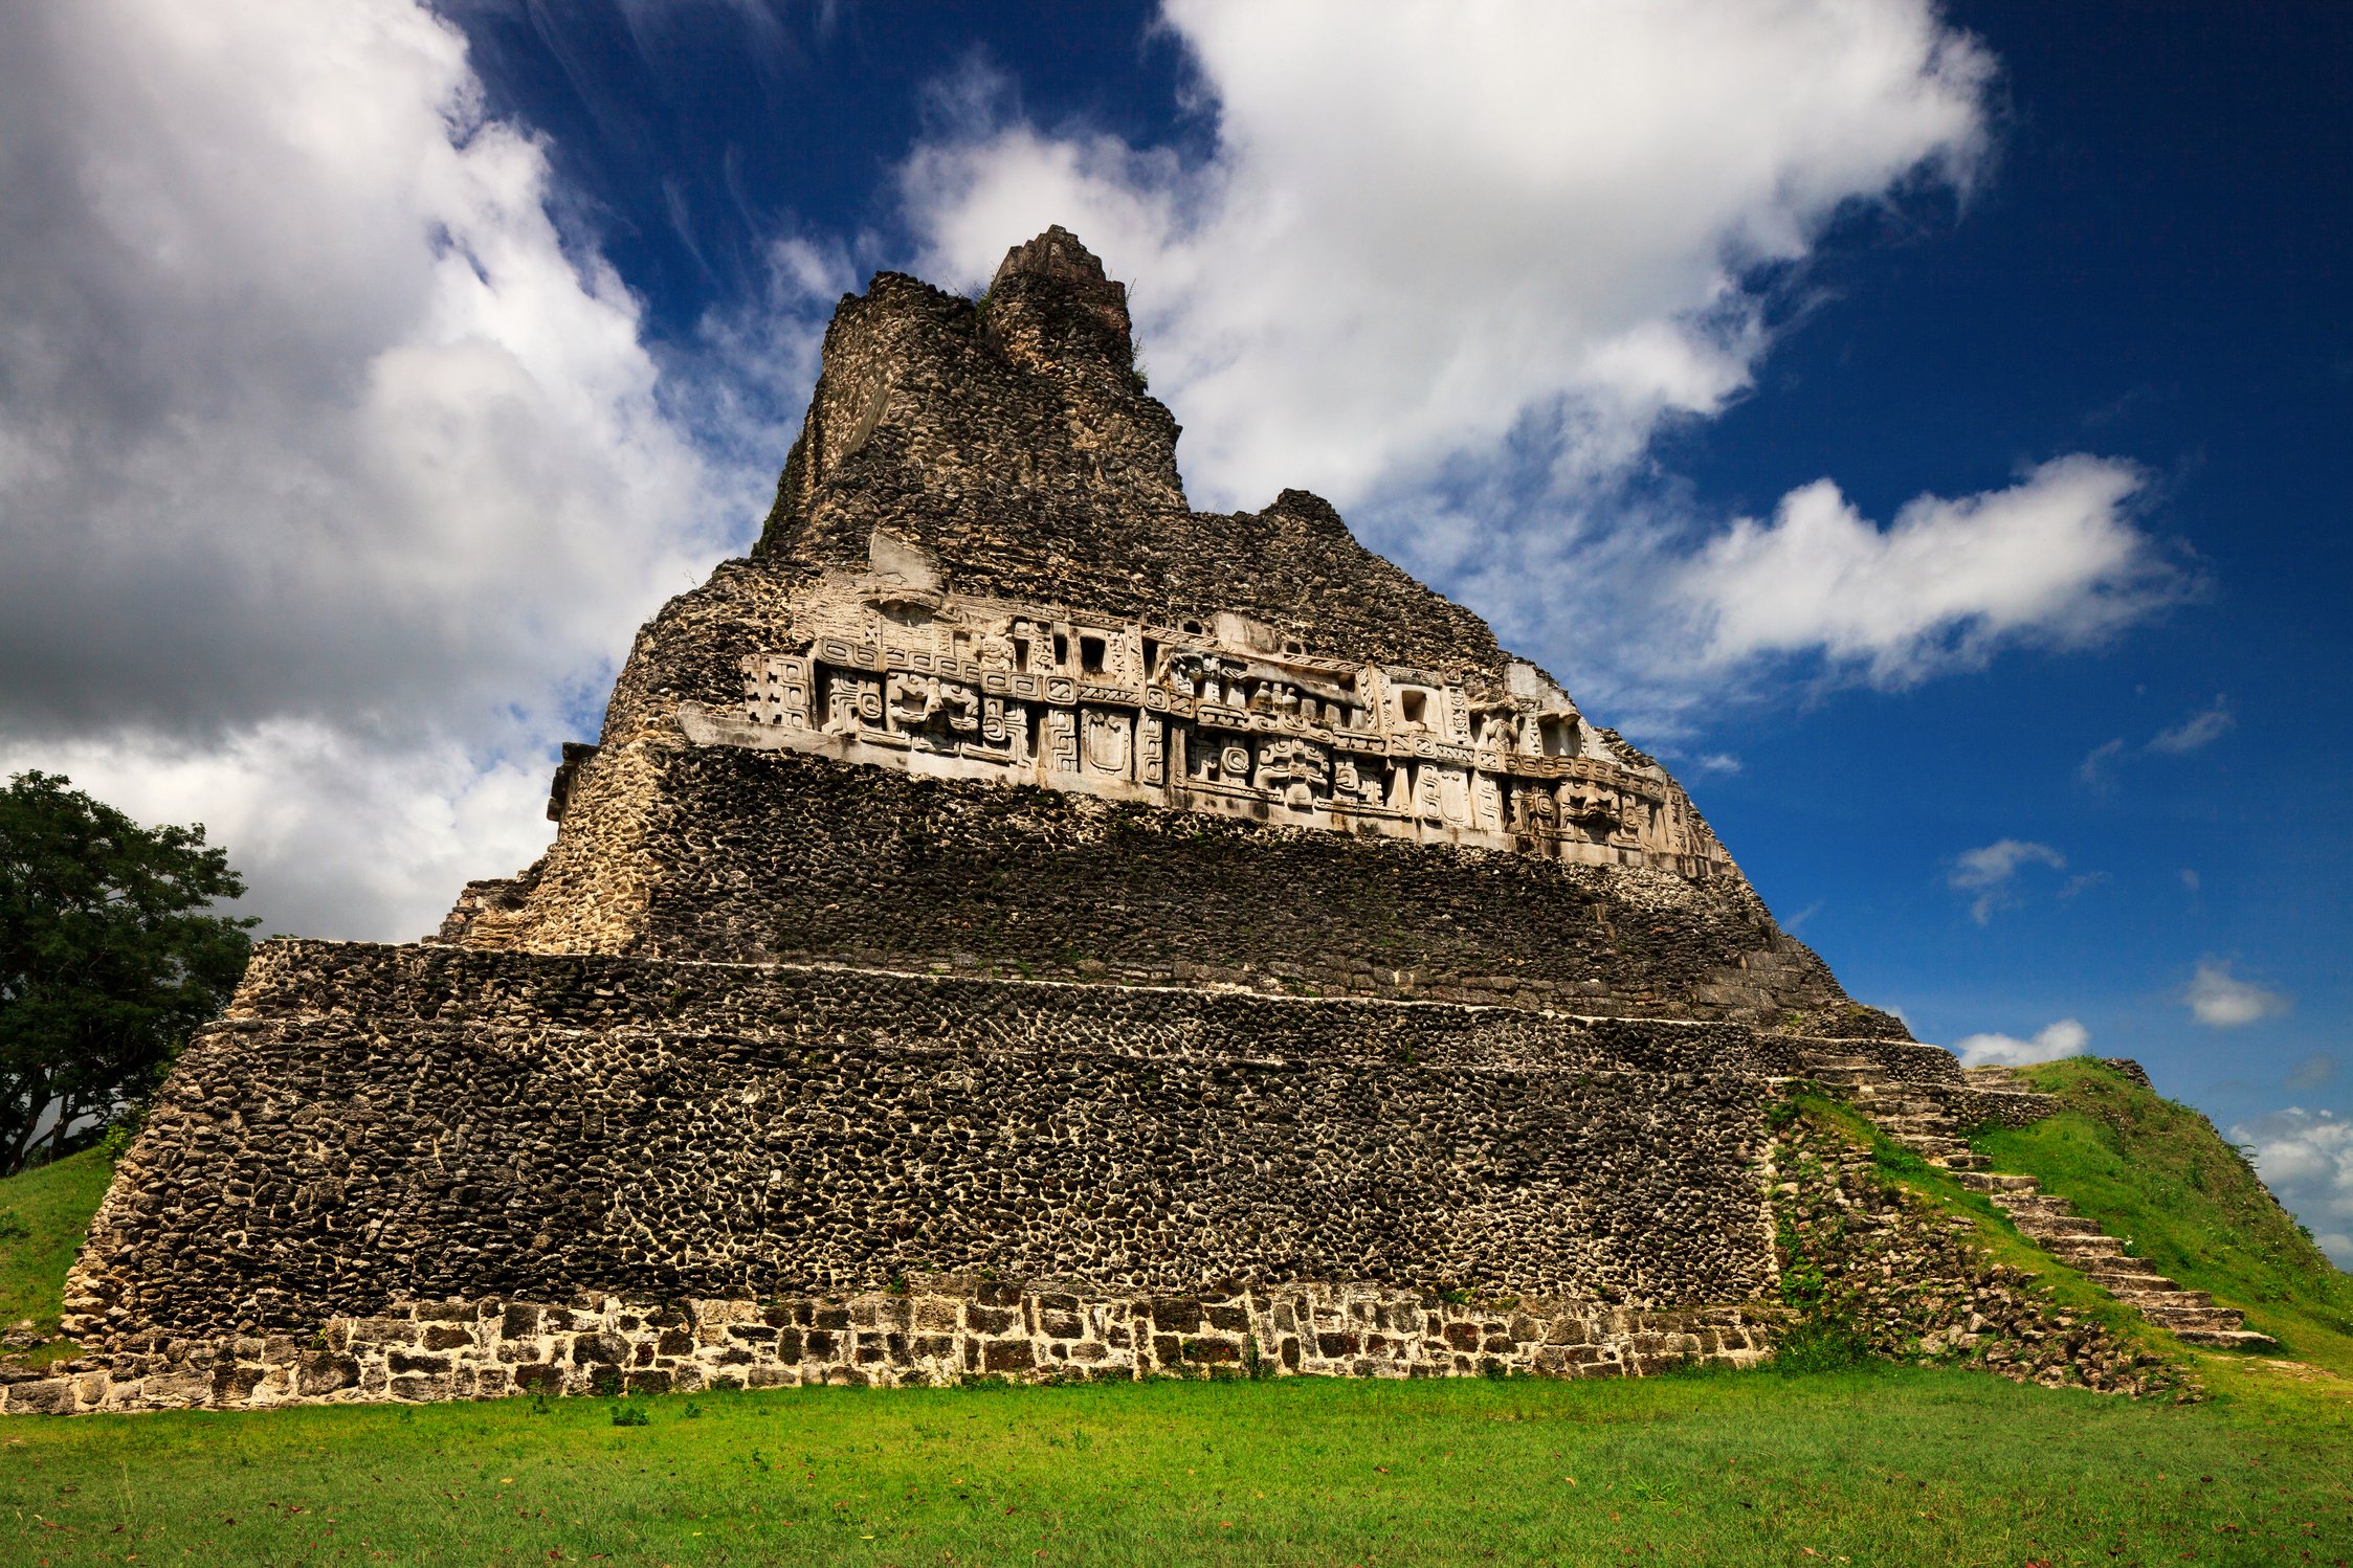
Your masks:
M 0 792 L 0 1175 L 144 1100 L 245 973 L 202 825 L 141 827 L 54 773 Z M 56 1110 L 45 1128 L 42 1117 Z

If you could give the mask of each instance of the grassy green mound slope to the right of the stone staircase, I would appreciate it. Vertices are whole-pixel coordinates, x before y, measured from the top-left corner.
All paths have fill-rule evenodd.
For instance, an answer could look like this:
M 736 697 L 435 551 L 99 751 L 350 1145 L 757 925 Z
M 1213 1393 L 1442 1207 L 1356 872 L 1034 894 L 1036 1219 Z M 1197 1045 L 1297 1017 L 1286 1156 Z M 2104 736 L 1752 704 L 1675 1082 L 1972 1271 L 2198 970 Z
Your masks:
M 2242 1309 L 2289 1356 L 2353 1378 L 2353 1276 L 2205 1117 L 2087 1058 L 2024 1077 L 2064 1110 L 2028 1128 L 1981 1131 L 1974 1145 L 1998 1171 L 2035 1175 L 2160 1274 Z

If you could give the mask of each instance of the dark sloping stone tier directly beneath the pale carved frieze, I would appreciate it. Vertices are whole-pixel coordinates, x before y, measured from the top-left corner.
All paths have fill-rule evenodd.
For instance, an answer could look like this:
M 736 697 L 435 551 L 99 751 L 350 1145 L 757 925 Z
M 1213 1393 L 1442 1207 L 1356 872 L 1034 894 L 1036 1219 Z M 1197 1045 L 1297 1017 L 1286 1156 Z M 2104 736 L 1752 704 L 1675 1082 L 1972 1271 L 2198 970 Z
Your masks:
M 515 905 L 459 940 L 1904 1032 L 1739 882 L 791 752 L 607 748 Z

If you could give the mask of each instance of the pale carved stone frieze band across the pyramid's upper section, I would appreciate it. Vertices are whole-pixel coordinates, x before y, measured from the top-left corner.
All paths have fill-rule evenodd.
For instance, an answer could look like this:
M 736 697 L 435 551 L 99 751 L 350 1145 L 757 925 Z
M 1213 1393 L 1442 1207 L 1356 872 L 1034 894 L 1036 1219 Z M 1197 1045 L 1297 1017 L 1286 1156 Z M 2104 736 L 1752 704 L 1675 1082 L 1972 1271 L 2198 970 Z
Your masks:
M 685 703 L 696 745 L 795 750 L 1294 827 L 1649 865 L 1732 860 L 1664 769 L 1534 665 L 1480 689 L 1301 646 L 1238 614 L 1174 625 L 960 595 L 875 536 L 741 658 L 744 703 Z

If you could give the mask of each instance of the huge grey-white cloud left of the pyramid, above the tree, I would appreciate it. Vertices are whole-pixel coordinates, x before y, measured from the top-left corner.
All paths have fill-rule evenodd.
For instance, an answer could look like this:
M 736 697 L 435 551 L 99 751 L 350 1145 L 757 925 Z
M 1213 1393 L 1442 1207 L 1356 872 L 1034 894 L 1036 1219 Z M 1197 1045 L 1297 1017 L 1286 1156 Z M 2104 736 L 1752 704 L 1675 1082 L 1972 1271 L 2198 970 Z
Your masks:
M 414 936 L 755 505 L 414 0 L 0 12 L 0 769 Z

